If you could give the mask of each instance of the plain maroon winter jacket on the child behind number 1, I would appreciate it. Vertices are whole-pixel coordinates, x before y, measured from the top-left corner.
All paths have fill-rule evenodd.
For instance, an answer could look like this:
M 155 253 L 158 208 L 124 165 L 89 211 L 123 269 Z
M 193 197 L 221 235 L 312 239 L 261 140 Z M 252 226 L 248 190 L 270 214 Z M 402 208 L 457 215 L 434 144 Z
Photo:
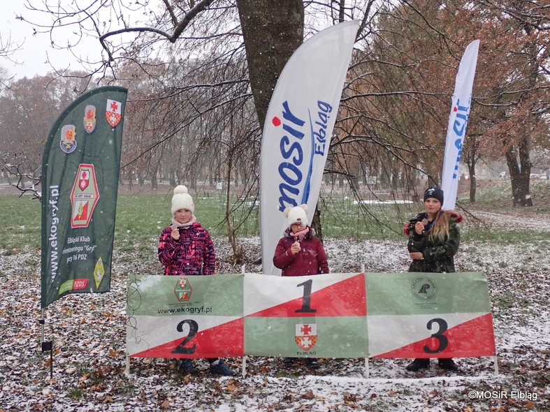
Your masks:
M 301 251 L 293 255 L 290 247 L 296 241 L 288 230 L 279 240 L 273 256 L 273 265 L 282 269 L 282 276 L 307 276 L 310 274 L 328 273 L 326 253 L 319 237 L 307 233 L 300 242 Z

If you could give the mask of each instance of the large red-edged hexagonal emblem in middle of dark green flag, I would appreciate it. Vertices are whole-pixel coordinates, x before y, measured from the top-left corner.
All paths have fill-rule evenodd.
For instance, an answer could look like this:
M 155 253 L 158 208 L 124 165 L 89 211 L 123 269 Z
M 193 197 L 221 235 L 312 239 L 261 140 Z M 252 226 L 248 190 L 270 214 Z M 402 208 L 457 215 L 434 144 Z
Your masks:
M 71 228 L 87 228 L 99 200 L 94 165 L 80 164 L 71 191 Z

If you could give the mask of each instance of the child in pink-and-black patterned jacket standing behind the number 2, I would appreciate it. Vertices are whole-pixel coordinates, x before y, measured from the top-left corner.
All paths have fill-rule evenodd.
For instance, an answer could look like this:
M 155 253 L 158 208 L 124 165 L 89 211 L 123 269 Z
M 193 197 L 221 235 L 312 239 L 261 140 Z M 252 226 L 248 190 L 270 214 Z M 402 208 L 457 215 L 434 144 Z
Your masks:
M 172 222 L 165 228 L 159 240 L 158 256 L 164 266 L 164 274 L 194 276 L 214 274 L 216 253 L 208 230 L 196 221 L 193 198 L 187 187 L 177 186 L 172 197 Z M 235 372 L 218 358 L 208 359 L 210 373 L 233 376 Z M 190 359 L 180 360 L 180 371 L 196 374 L 198 370 Z

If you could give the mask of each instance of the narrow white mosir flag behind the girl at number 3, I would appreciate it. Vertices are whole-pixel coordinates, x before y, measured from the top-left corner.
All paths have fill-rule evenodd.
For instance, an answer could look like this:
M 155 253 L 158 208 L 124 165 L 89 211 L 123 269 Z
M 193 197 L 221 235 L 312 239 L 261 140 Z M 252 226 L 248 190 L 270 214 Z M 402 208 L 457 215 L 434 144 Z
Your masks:
M 475 68 L 477 66 L 477 51 L 479 40 L 472 41 L 466 47 L 461 64 L 458 66 L 456 84 L 454 87 L 451 115 L 447 126 L 447 141 L 443 159 L 441 189 L 444 193 L 442 209 L 452 210 L 456 203 L 458 190 L 458 165 L 461 162 L 462 146 L 466 135 L 466 126 L 470 119 L 472 105 L 472 87 L 474 85 Z

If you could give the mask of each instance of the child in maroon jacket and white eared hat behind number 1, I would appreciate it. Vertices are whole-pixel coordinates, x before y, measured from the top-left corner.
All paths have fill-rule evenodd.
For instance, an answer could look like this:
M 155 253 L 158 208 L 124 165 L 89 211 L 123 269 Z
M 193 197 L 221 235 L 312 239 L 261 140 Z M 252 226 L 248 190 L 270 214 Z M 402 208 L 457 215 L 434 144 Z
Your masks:
M 307 221 L 307 205 L 284 209 L 288 228 L 277 243 L 273 265 L 282 270 L 282 276 L 309 276 L 328 273 L 325 249 Z M 292 365 L 296 358 L 285 358 Z M 319 369 L 317 358 L 306 358 L 307 365 Z

